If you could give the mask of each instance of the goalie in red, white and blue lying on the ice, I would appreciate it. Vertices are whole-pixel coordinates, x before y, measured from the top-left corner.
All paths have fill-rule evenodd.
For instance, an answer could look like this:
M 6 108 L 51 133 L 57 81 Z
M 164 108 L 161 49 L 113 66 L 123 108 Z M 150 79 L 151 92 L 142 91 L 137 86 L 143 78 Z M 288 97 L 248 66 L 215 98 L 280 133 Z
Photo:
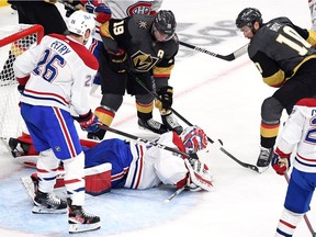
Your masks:
M 14 140 L 14 146 L 11 147 L 15 160 L 34 166 L 36 153 L 30 137 L 23 135 Z M 139 145 L 117 138 L 104 139 L 101 143 L 81 140 L 81 145 L 86 147 L 86 192 L 100 195 L 109 192 L 111 188 L 144 190 L 158 187 L 160 183 L 191 191 L 214 190 L 206 163 L 160 147 L 163 145 L 187 154 L 205 149 L 207 139 L 200 127 L 187 127 L 180 136 L 174 132 L 165 133 L 156 144 L 159 146 Z M 32 178 L 36 180 L 36 176 L 33 174 Z M 63 179 L 63 176 L 60 178 Z M 55 187 L 63 185 L 61 181 Z

